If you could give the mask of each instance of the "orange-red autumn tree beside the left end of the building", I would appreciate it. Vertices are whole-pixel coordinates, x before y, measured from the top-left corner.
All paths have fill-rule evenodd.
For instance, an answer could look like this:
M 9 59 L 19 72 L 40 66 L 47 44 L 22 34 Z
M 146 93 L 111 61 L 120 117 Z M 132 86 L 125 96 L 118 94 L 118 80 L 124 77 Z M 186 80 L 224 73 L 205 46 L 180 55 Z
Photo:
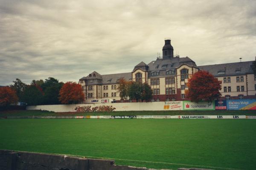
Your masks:
M 60 90 L 59 101 L 62 104 L 76 104 L 84 101 L 81 85 L 76 84 L 76 82 L 66 82 Z

